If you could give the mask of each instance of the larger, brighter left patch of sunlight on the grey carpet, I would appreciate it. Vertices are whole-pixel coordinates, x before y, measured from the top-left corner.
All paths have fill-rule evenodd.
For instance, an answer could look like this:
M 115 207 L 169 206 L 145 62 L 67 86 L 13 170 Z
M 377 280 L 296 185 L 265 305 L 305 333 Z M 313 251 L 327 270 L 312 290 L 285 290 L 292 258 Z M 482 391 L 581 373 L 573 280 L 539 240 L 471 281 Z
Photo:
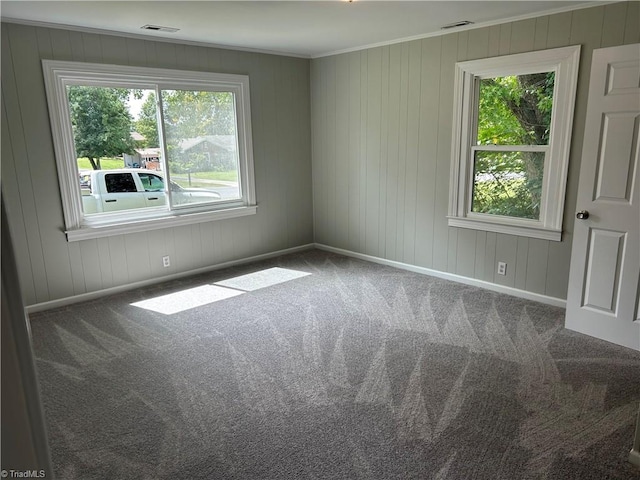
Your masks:
M 216 285 L 202 285 L 179 292 L 132 303 L 134 307 L 152 310 L 164 315 L 183 312 L 191 308 L 208 305 L 226 298 L 242 295 L 244 292 Z

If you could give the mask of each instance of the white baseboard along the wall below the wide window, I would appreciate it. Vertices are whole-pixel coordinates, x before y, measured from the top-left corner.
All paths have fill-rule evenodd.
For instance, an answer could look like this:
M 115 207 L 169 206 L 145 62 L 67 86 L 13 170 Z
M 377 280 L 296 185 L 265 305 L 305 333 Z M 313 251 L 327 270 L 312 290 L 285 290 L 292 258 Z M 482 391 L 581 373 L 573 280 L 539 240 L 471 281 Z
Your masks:
M 300 245 L 298 247 L 286 248 L 284 250 L 263 253 L 260 255 L 254 255 L 252 257 L 242 258 L 238 260 L 230 260 L 228 262 L 209 265 L 207 267 L 202 267 L 202 268 L 196 268 L 194 270 L 188 270 L 186 272 L 174 273 L 172 275 L 165 275 L 165 276 L 153 278 L 150 280 L 141 280 L 139 282 L 127 283 L 126 285 L 118 285 L 116 287 L 96 290 L 94 292 L 82 293 L 80 295 L 74 295 L 72 297 L 65 297 L 57 300 L 51 300 L 48 302 L 35 303 L 33 305 L 28 305 L 27 307 L 25 307 L 25 311 L 27 314 L 29 314 L 29 313 L 36 313 L 36 312 L 42 312 L 45 310 L 50 310 L 52 308 L 65 307 L 67 305 L 72 305 L 74 303 L 86 302 L 89 300 L 95 300 L 97 298 L 106 297 L 108 295 L 114 295 L 116 293 L 126 292 L 127 290 L 133 290 L 134 288 L 147 287 L 149 285 L 155 285 L 157 283 L 167 282 L 170 280 L 177 280 L 179 278 L 185 278 L 191 275 L 198 275 L 201 273 L 221 270 L 223 268 L 233 267 L 236 265 L 243 265 L 245 263 L 257 262 L 260 260 L 267 260 L 269 258 L 279 257 L 281 255 L 287 255 L 290 253 L 310 250 L 312 248 L 315 248 L 315 245 L 313 243 L 308 243 L 306 245 Z

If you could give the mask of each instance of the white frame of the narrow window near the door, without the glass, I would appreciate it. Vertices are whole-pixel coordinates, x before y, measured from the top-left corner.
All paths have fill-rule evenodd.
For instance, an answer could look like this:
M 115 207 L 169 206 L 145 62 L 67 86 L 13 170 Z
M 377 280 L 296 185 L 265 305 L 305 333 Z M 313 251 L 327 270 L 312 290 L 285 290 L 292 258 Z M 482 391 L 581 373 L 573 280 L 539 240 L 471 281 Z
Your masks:
M 577 45 L 456 64 L 449 226 L 545 240 L 562 239 L 562 217 L 579 60 L 580 46 Z M 472 212 L 479 81 L 483 78 L 551 71 L 555 72 L 555 82 L 549 145 L 530 147 L 534 151 L 545 153 L 539 219 Z M 513 147 L 505 148 L 513 150 Z M 500 151 L 501 147 L 496 146 L 493 149 Z

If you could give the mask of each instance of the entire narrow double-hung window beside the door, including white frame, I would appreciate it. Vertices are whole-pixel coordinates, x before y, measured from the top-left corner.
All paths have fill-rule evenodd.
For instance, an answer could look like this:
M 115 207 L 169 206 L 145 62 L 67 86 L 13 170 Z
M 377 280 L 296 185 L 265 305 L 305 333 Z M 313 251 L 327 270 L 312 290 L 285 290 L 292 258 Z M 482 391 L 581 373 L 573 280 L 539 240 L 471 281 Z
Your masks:
M 459 62 L 448 224 L 560 240 L 580 47 Z

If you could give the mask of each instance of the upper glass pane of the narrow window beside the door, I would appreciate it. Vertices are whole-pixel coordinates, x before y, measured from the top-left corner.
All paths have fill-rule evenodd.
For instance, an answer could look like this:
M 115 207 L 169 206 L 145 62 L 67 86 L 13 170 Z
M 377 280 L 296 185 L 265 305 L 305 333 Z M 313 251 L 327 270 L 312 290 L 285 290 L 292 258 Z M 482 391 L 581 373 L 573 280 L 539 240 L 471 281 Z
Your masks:
M 485 78 L 478 99 L 478 145 L 548 145 L 554 72 Z

